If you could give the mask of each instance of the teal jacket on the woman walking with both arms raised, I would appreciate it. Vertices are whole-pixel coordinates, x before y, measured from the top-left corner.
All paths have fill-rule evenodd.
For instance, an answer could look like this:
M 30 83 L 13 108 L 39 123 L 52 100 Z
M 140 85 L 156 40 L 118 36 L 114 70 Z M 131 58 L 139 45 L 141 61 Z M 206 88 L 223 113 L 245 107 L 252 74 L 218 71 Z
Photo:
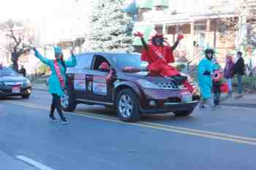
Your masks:
M 49 78 L 49 92 L 52 94 L 57 94 L 58 96 L 63 96 L 64 92 L 61 89 L 61 83 L 59 82 L 59 78 L 56 74 L 56 70 L 54 69 L 54 63 L 53 60 L 50 60 L 48 58 L 44 58 L 36 49 L 34 49 L 34 55 L 36 55 L 37 58 L 39 58 L 42 63 L 45 63 L 50 67 L 51 70 L 51 75 Z M 66 73 L 64 72 L 64 66 L 61 65 L 61 61 L 58 61 L 60 69 L 61 69 L 61 74 L 64 77 L 65 82 L 66 80 Z M 64 61 L 67 67 L 72 67 L 77 65 L 77 61 L 75 59 L 75 55 L 71 55 L 71 61 Z

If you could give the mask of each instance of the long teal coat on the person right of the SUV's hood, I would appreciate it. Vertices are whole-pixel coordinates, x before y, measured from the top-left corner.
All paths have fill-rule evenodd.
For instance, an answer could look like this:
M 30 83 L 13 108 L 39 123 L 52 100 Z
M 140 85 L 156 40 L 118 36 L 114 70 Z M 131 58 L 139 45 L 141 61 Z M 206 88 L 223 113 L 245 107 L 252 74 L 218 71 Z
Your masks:
M 214 71 L 214 64 L 209 61 L 207 58 L 203 58 L 198 66 L 198 85 L 200 88 L 200 93 L 202 98 L 211 98 L 211 87 L 212 87 L 212 80 L 211 76 L 203 75 L 204 72 L 211 72 Z

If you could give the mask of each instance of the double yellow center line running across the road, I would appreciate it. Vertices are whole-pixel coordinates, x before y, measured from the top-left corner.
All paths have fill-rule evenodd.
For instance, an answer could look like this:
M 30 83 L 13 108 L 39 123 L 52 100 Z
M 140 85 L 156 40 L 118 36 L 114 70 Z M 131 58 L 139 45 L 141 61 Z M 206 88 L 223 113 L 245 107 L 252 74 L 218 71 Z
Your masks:
M 7 101 L 6 103 L 20 105 L 20 106 L 24 106 L 24 107 L 33 107 L 36 109 L 49 110 L 48 107 L 46 107 L 46 106 L 29 104 L 26 102 Z M 110 122 L 115 122 L 115 123 L 140 126 L 140 127 L 144 127 L 144 128 L 154 128 L 154 129 L 163 130 L 163 131 L 171 131 L 171 132 L 175 132 L 178 134 L 189 134 L 192 136 L 200 136 L 200 137 L 211 138 L 211 139 L 220 139 L 220 140 L 224 140 L 224 141 L 236 142 L 239 144 L 243 143 L 243 144 L 256 145 L 255 138 L 249 138 L 249 137 L 244 137 L 244 136 L 234 136 L 234 135 L 229 135 L 229 134 L 215 133 L 215 132 L 211 132 L 211 131 L 201 131 L 201 130 L 191 129 L 191 128 L 181 128 L 181 127 L 176 127 L 176 126 L 172 126 L 172 125 L 162 125 L 159 123 L 148 123 L 148 122 L 125 123 L 121 120 L 118 120 L 118 118 L 116 118 L 116 117 L 110 117 L 110 116 L 105 116 L 105 115 L 96 115 L 96 114 L 89 113 L 89 112 L 67 112 L 67 113 L 69 113 L 71 115 L 82 116 L 82 117 L 91 117 L 91 118 L 94 118 L 97 120 L 105 120 L 105 121 L 110 121 Z

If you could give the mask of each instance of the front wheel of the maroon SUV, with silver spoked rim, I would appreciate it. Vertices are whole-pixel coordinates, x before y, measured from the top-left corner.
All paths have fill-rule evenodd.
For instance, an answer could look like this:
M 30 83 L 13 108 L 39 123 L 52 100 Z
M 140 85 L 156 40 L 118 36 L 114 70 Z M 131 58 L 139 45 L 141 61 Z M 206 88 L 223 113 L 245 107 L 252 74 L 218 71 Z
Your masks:
M 138 98 L 133 90 L 124 89 L 116 98 L 116 112 L 124 122 L 136 122 L 140 120 Z

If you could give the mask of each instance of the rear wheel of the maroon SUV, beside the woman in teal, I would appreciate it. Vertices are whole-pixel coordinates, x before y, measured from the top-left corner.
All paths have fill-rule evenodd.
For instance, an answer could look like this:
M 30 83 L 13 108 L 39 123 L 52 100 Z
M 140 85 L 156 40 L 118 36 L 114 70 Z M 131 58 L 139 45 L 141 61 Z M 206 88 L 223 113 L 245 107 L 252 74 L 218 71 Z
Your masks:
M 77 106 L 75 96 L 69 88 L 64 89 L 64 96 L 61 96 L 61 107 L 65 112 L 72 112 Z

